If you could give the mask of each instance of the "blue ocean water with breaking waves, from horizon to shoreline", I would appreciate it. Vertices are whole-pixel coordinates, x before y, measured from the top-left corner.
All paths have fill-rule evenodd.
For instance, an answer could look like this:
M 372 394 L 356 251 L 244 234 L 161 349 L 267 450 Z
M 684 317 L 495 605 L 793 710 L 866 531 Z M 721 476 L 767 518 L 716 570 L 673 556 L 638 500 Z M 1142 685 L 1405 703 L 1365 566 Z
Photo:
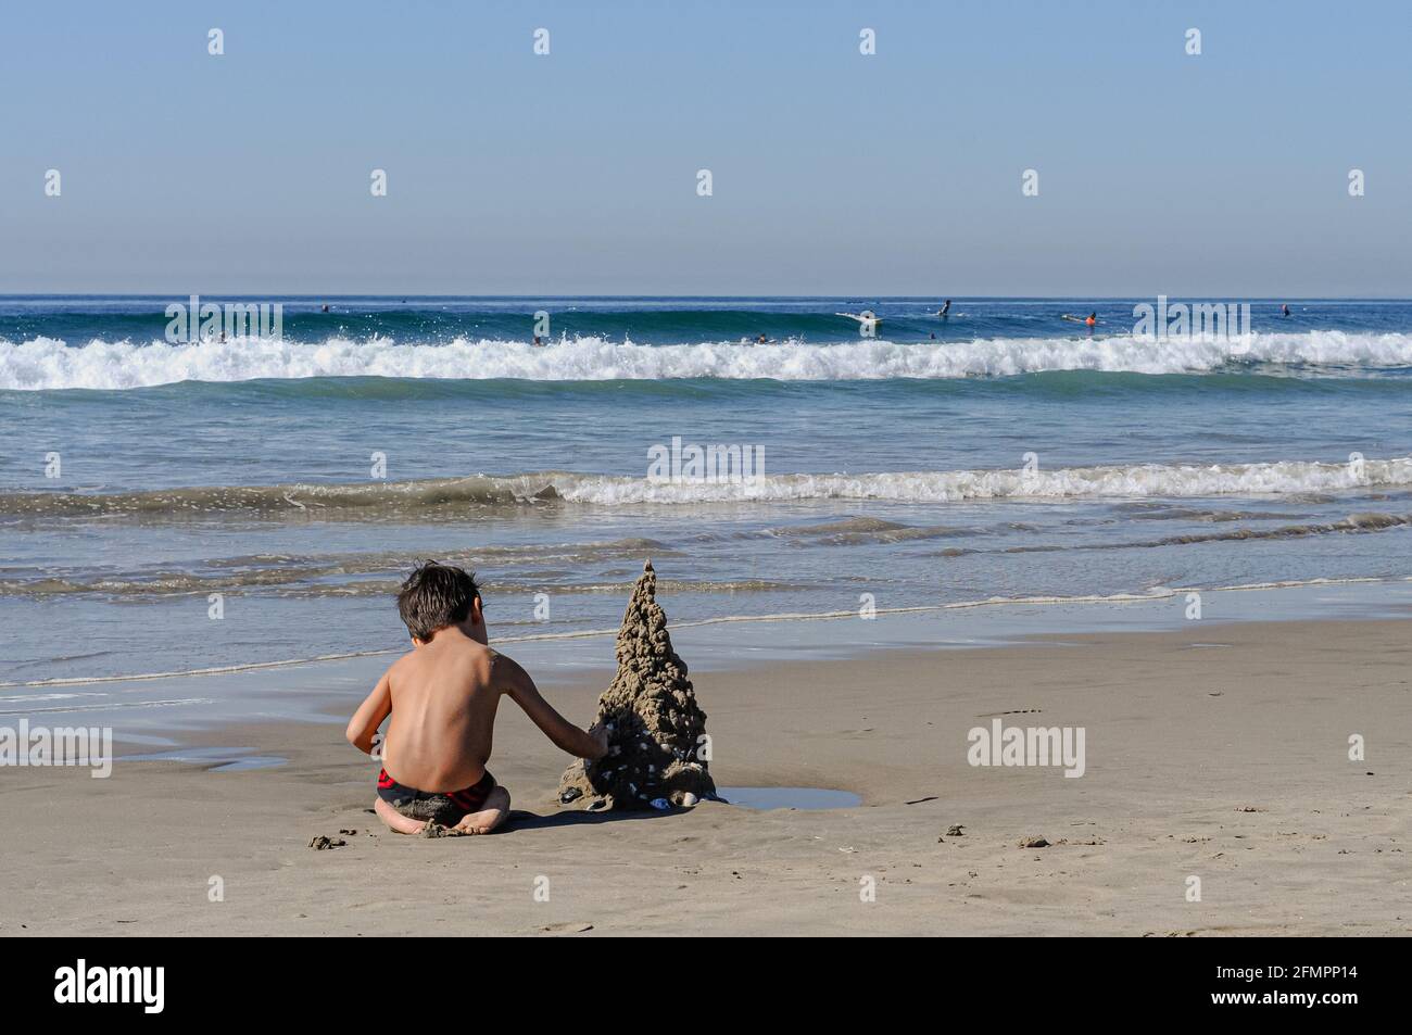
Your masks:
M 1155 299 L 202 301 L 282 337 L 0 298 L 11 693 L 397 650 L 419 558 L 548 640 L 614 628 L 647 558 L 674 624 L 1412 575 L 1406 301 L 1165 339 Z

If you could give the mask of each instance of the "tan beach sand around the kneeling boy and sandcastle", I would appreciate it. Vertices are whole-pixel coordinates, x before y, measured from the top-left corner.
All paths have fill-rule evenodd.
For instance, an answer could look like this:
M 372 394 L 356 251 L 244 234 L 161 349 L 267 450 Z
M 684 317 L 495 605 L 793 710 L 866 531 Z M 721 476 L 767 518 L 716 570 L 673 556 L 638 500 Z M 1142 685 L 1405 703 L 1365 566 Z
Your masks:
M 747 672 L 688 659 L 720 785 L 850 789 L 854 809 L 559 809 L 563 755 L 513 705 L 491 767 L 518 812 L 490 837 L 378 829 L 376 765 L 342 724 L 210 740 L 289 758 L 265 771 L 11 770 L 0 933 L 1406 935 L 1409 630 L 1196 623 Z M 586 720 L 609 675 L 544 689 Z M 969 765 L 967 730 L 995 714 L 1084 727 L 1086 774 Z M 1354 733 L 1367 761 L 1348 760 Z M 311 850 L 321 834 L 347 844 Z M 1031 836 L 1052 844 L 1018 847 Z

